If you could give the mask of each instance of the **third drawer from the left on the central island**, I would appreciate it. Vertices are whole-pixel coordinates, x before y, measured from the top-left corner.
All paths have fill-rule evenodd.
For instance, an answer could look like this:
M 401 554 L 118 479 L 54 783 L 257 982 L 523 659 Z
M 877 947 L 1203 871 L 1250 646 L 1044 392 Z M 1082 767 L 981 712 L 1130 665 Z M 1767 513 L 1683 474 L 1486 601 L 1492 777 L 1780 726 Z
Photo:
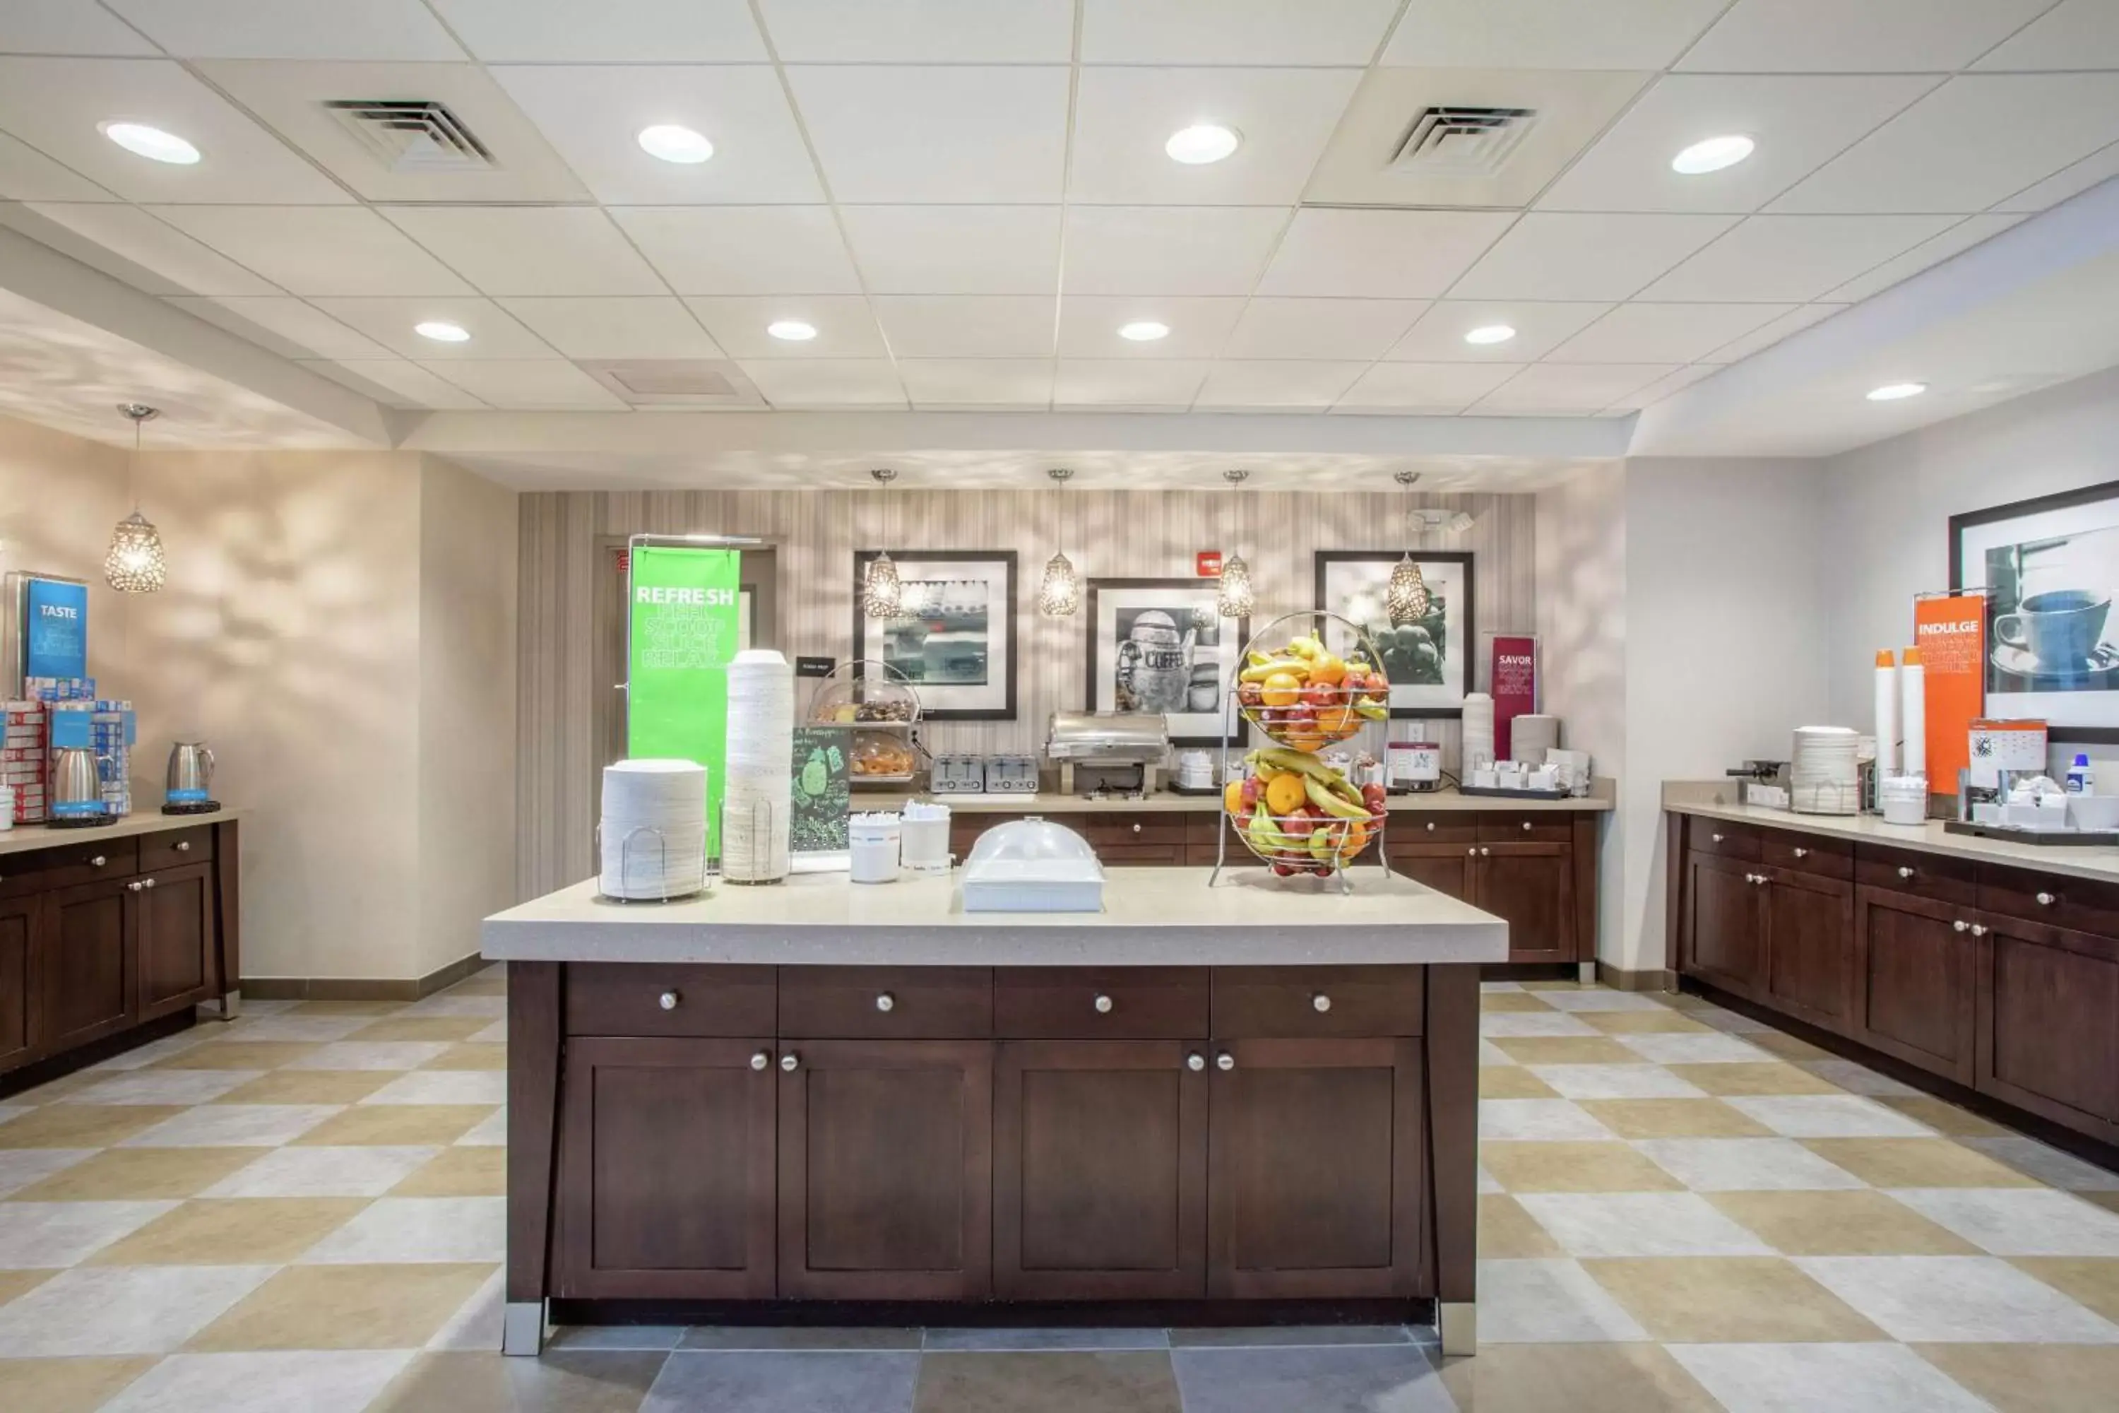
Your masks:
M 1199 966 L 1000 966 L 994 1034 L 1004 1040 L 1201 1040 Z

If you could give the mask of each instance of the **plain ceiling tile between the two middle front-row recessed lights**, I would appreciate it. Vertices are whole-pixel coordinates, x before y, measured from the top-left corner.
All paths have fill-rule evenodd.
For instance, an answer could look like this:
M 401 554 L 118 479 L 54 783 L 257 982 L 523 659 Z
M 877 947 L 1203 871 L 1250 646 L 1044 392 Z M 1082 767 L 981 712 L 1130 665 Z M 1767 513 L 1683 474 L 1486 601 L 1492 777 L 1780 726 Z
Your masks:
M 1057 201 L 1066 68 L 795 66 L 837 201 Z

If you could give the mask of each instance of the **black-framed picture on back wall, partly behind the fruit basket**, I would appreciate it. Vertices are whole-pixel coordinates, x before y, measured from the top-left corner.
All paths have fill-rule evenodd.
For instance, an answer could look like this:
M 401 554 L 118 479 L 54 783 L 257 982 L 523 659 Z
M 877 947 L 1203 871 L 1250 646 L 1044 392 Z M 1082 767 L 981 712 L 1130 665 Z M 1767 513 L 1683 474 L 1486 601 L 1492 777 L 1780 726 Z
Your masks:
M 1411 623 L 1390 623 L 1384 593 L 1405 551 L 1320 549 L 1316 606 L 1358 623 L 1390 678 L 1392 716 L 1464 716 L 1473 684 L 1471 644 L 1477 636 L 1471 595 L 1471 551 L 1413 551 L 1426 606 Z M 1354 633 L 1326 623 L 1324 646 L 1346 657 Z

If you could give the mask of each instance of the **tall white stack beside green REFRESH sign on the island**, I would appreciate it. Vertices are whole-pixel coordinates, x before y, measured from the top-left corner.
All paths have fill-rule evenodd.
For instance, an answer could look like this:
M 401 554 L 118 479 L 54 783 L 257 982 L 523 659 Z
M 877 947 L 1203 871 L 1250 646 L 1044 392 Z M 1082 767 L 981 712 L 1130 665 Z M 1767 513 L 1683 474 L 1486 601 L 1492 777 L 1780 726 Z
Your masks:
M 729 663 L 727 765 L 720 877 L 778 883 L 788 875 L 795 801 L 795 672 L 771 648 L 748 648 Z

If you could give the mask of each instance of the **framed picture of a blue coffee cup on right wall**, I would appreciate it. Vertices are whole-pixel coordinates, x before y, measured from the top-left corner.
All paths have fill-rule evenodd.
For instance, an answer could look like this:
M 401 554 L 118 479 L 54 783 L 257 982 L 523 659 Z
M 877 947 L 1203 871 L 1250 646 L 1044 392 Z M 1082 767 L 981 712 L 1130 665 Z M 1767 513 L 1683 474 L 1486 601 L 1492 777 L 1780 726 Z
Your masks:
M 2119 741 L 2119 481 L 1952 515 L 1949 587 L 1988 595 L 1990 714 Z

